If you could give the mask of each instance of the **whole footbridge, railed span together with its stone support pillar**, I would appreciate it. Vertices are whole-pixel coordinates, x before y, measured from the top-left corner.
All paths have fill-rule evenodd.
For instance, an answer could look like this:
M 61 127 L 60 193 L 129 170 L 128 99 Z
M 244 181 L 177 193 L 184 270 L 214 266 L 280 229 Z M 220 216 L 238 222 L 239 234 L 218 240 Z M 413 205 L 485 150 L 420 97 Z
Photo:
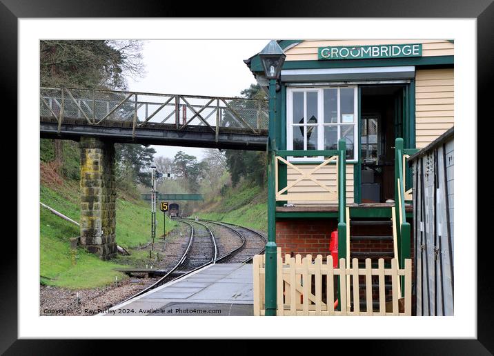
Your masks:
M 80 244 L 110 259 L 115 241 L 115 143 L 266 150 L 268 102 L 81 88 L 40 88 L 41 138 L 79 141 Z

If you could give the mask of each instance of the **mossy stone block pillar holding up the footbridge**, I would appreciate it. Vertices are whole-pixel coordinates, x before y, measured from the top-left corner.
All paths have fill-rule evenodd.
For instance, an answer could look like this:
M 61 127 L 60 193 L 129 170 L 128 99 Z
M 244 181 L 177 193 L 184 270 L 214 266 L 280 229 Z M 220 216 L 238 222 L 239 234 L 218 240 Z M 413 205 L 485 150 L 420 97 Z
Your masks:
M 81 245 L 110 259 L 115 242 L 115 147 L 94 137 L 81 137 Z

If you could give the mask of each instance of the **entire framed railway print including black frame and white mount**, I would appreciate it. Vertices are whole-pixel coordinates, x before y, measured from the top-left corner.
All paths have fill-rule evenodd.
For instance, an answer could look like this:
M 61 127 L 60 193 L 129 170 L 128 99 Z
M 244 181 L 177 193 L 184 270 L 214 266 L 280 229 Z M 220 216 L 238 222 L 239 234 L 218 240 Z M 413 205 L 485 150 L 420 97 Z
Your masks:
M 478 175 L 484 179 L 477 179 L 479 164 L 485 164 L 478 159 L 483 139 L 477 130 L 491 116 L 486 109 L 494 5 L 388 0 L 379 6 L 364 1 L 273 5 L 243 4 L 247 18 L 241 19 L 219 18 L 214 11 L 211 18 L 197 18 L 208 14 L 201 4 L 184 12 L 183 6 L 158 1 L 115 6 L 2 0 L 3 99 L 16 108 L 12 126 L 19 139 L 17 241 L 5 234 L 0 269 L 6 281 L 0 303 L 2 353 L 85 353 L 92 349 L 90 339 L 175 338 L 355 339 L 352 350 L 379 355 L 494 353 L 491 246 L 488 234 L 479 230 L 488 208 L 477 202 L 477 188 L 488 192 L 491 185 L 484 178 L 488 168 Z M 87 47 L 79 46 L 82 42 Z M 67 66 L 63 55 L 57 57 L 64 46 L 74 56 Z M 235 51 L 244 57 L 229 59 Z M 156 80 L 137 85 L 119 75 L 119 66 Z M 66 80 L 71 70 L 77 75 Z M 205 72 L 214 78 L 203 77 Z M 240 77 L 246 79 L 238 85 Z M 240 86 L 237 95 L 221 91 L 230 83 Z M 243 90 L 249 85 L 250 91 Z M 5 120 L 14 123 L 12 117 Z M 456 170 L 448 141 L 453 134 L 436 141 L 451 126 L 457 126 Z M 478 133 L 484 132 L 488 129 Z M 152 157 L 164 142 L 166 150 L 197 151 L 177 148 L 168 160 Z M 122 145 L 128 145 L 125 153 Z M 427 148 L 437 152 L 419 153 Z M 203 160 L 199 149 L 219 155 Z M 119 161 L 124 154 L 145 163 L 125 166 Z M 63 164 L 68 155 L 72 166 Z M 417 163 L 420 155 L 425 168 Z M 56 157 L 62 157 L 59 166 Z M 244 195 L 235 186 L 248 186 L 248 178 L 236 177 L 235 167 L 228 166 L 235 159 L 250 167 L 251 176 L 259 170 L 251 188 L 263 197 L 261 207 L 255 199 L 240 200 Z M 456 190 L 456 209 L 448 205 L 453 200 L 441 198 L 452 195 L 453 172 L 455 186 L 462 187 Z M 295 187 L 302 179 L 310 182 Z M 137 187 L 135 196 L 120 199 L 127 183 Z M 214 194 L 206 189 L 212 186 L 218 188 Z M 424 193 L 423 202 L 418 192 Z M 227 214 L 222 199 L 236 201 L 235 209 L 241 210 L 235 210 L 235 219 L 197 208 L 215 201 Z M 223 227 L 211 226 L 220 219 Z M 359 241 L 351 257 L 364 258 L 362 265 L 350 265 L 350 226 L 378 221 L 367 234 L 375 241 L 383 219 L 391 232 L 386 238 L 395 244 L 384 253 L 389 260 L 382 266 L 377 259 L 375 265 L 364 263 L 368 251 Z M 66 236 L 59 250 L 61 238 L 50 237 L 55 220 L 67 224 L 60 229 Z M 417 221 L 434 221 L 433 228 Z M 258 239 L 255 246 L 262 252 L 239 259 L 239 269 L 227 273 L 221 259 L 230 258 L 229 245 L 221 242 L 224 235 L 213 235 L 228 229 L 237 231 L 232 235 L 239 241 L 250 239 L 252 249 Z M 446 239 L 453 232 L 454 249 Z M 194 233 L 205 261 L 187 266 L 183 262 L 195 250 Z M 367 235 L 357 233 L 355 241 Z M 413 247 L 408 244 L 407 250 L 403 241 Z M 373 244 L 370 249 L 379 252 L 389 247 Z M 422 255 L 421 248 L 431 253 Z M 300 251 L 310 258 L 299 260 Z M 167 254 L 177 263 L 168 264 Z M 167 261 L 163 266 L 160 258 Z M 88 269 L 67 272 L 76 264 Z M 426 264 L 433 267 L 426 270 Z M 155 286 L 168 273 L 177 277 L 166 287 L 171 289 L 165 283 Z M 239 288 L 230 273 L 249 276 L 244 289 L 228 292 Z M 199 278 L 211 284 L 199 286 Z M 95 282 L 100 279 L 101 284 Z M 216 286 L 218 299 L 211 301 L 206 292 L 218 279 L 224 284 Z M 90 293 L 124 287 L 125 296 L 92 309 L 85 304 Z M 158 293 L 158 288 L 163 289 Z M 235 298 L 221 299 L 227 292 Z M 183 295 L 197 295 L 197 304 Z M 199 304 L 231 316 L 201 317 L 196 310 L 190 318 L 167 318 L 172 308 Z M 120 312 L 135 316 L 116 319 Z M 339 342 L 343 346 L 346 340 Z

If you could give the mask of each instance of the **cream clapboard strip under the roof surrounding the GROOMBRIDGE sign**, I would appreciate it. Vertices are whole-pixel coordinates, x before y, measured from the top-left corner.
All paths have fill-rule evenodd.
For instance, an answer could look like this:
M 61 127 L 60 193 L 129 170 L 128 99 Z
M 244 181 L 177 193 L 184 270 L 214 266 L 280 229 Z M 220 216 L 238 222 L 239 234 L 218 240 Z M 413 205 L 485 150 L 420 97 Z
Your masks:
M 317 48 L 326 46 L 368 46 L 422 43 L 422 57 L 452 56 L 454 45 L 444 39 L 348 39 L 306 40 L 285 51 L 286 61 L 317 61 Z

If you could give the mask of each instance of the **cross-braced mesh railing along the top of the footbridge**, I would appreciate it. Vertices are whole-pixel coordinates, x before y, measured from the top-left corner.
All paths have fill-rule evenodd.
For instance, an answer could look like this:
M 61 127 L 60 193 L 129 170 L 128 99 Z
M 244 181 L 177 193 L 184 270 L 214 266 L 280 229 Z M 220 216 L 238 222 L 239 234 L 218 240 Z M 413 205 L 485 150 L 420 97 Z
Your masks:
M 268 102 L 262 99 L 169 95 L 149 92 L 40 88 L 41 120 L 73 120 L 95 126 L 204 126 L 218 135 L 221 128 L 260 134 L 268 130 Z

